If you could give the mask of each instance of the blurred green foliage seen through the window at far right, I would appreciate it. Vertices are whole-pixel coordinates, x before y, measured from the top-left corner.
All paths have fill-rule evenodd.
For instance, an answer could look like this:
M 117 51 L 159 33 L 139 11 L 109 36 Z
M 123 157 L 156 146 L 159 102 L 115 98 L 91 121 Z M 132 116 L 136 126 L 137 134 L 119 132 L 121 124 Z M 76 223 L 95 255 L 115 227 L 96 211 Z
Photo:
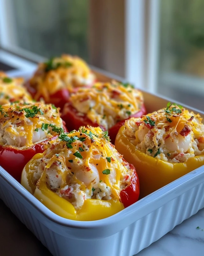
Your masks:
M 194 56 L 204 50 L 204 1 L 161 0 L 160 4 L 160 67 L 190 72 L 186 63 L 193 65 Z

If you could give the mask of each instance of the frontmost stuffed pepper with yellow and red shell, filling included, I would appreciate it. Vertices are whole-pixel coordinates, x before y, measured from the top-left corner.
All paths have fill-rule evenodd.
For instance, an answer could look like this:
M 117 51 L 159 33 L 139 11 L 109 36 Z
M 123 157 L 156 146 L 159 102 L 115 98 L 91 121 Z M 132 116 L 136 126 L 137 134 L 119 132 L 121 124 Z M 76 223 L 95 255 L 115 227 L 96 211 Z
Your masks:
M 71 220 L 109 217 L 139 197 L 135 167 L 99 127 L 83 127 L 49 141 L 26 164 L 21 184 L 42 204 Z

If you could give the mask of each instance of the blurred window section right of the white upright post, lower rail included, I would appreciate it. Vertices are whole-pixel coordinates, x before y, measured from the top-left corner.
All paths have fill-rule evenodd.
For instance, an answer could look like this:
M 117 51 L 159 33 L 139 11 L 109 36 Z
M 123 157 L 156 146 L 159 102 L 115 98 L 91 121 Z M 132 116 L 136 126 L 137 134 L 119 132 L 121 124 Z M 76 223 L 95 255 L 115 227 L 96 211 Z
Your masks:
M 158 92 L 204 107 L 204 1 L 160 1 Z

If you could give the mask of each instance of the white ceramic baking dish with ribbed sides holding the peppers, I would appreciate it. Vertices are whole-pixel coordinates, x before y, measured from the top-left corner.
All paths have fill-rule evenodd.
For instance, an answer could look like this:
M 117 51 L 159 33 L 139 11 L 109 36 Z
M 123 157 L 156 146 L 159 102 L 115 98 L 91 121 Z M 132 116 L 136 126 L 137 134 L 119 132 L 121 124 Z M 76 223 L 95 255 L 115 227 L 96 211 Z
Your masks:
M 149 112 L 173 102 L 148 92 L 144 100 Z M 60 256 L 132 256 L 203 208 L 203 191 L 204 166 L 109 218 L 74 221 L 51 212 L 0 167 L 0 198 L 53 255 Z

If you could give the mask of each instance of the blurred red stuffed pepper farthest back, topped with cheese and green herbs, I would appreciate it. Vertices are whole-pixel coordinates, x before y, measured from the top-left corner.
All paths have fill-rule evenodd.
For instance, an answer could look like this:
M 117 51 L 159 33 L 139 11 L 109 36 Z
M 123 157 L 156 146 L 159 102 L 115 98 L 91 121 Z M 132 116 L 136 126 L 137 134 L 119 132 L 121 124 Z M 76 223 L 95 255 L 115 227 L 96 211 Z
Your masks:
M 63 54 L 40 63 L 26 87 L 35 100 L 43 98 L 46 103 L 62 109 L 70 92 L 78 87 L 91 86 L 94 81 L 95 76 L 84 60 Z

